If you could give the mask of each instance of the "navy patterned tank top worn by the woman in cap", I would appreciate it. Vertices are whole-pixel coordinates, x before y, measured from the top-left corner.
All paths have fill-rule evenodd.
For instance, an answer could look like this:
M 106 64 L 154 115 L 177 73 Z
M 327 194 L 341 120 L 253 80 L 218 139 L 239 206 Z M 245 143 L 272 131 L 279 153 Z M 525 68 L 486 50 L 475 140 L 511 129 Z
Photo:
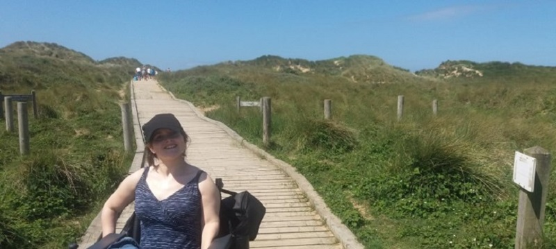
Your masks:
M 135 212 L 141 221 L 141 249 L 199 249 L 201 247 L 202 200 L 199 171 L 181 189 L 158 200 L 147 185 L 149 168 L 135 191 Z

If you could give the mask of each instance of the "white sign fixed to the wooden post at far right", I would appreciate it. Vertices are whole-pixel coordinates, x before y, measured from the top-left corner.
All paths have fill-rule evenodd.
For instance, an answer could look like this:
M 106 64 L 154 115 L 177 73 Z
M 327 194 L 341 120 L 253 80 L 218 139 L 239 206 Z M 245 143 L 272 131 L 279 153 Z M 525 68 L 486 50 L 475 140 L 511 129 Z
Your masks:
M 537 171 L 537 160 L 516 151 L 514 158 L 514 182 L 523 189 L 534 191 L 534 173 Z

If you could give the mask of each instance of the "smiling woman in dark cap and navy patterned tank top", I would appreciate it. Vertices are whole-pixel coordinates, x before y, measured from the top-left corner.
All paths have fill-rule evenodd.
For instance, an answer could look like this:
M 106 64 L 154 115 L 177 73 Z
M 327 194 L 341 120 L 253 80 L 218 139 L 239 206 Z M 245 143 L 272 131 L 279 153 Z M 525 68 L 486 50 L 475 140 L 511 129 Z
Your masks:
M 141 249 L 208 248 L 218 234 L 218 188 L 186 162 L 189 137 L 173 114 L 157 114 L 142 130 L 149 166 L 125 178 L 106 200 L 102 236 L 115 232 L 117 214 L 135 200 Z

